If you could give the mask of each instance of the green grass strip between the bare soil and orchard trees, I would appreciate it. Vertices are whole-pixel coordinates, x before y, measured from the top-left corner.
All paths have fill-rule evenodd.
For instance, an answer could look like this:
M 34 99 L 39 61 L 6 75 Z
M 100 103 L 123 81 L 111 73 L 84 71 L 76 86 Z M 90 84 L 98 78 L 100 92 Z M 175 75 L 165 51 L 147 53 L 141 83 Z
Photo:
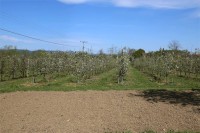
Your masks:
M 151 81 L 151 77 L 130 67 L 123 84 L 117 84 L 116 70 L 94 76 L 82 83 L 76 83 L 73 76 L 57 77 L 50 82 L 42 81 L 37 77 L 37 83 L 32 83 L 32 78 L 16 79 L 0 82 L 0 93 L 13 91 L 73 91 L 73 90 L 147 90 L 169 89 L 187 90 L 199 89 L 200 82 L 197 80 L 174 77 L 173 83 L 157 83 Z

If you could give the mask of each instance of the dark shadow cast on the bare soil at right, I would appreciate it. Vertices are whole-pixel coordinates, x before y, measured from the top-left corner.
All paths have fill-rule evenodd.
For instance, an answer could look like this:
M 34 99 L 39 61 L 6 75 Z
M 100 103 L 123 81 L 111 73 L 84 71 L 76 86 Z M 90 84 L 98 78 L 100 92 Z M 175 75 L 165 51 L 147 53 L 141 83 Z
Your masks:
M 200 113 L 200 89 L 192 89 L 187 91 L 154 89 L 143 91 L 141 92 L 141 94 L 137 94 L 134 96 L 143 97 L 145 100 L 151 103 L 165 102 L 169 104 L 180 104 L 182 106 L 196 106 L 196 111 Z

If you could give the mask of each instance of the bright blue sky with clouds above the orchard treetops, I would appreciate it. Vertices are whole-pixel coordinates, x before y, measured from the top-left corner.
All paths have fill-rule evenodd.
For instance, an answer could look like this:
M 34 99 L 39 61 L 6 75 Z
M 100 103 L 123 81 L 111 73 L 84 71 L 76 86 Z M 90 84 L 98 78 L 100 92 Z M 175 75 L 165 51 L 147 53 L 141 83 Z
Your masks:
M 129 47 L 154 51 L 177 40 L 200 48 L 200 0 L 0 0 L 0 47 L 86 50 Z

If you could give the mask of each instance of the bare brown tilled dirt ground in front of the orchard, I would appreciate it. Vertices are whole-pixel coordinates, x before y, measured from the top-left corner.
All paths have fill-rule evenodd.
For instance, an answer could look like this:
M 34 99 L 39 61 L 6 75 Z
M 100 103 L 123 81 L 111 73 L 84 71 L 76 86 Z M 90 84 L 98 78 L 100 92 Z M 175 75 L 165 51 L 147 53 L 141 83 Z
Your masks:
M 0 94 L 0 133 L 105 133 L 168 129 L 200 131 L 198 98 L 141 91 Z M 184 95 L 185 96 L 185 95 Z M 195 103 L 195 104 L 194 104 Z

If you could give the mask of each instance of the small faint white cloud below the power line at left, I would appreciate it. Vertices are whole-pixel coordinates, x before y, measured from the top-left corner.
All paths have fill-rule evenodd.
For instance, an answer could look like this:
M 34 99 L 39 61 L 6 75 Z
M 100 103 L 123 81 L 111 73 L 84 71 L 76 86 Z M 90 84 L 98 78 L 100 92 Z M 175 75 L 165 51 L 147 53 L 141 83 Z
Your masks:
M 33 43 L 33 41 L 30 40 L 19 39 L 8 35 L 0 35 L 0 40 L 14 42 L 14 43 Z

